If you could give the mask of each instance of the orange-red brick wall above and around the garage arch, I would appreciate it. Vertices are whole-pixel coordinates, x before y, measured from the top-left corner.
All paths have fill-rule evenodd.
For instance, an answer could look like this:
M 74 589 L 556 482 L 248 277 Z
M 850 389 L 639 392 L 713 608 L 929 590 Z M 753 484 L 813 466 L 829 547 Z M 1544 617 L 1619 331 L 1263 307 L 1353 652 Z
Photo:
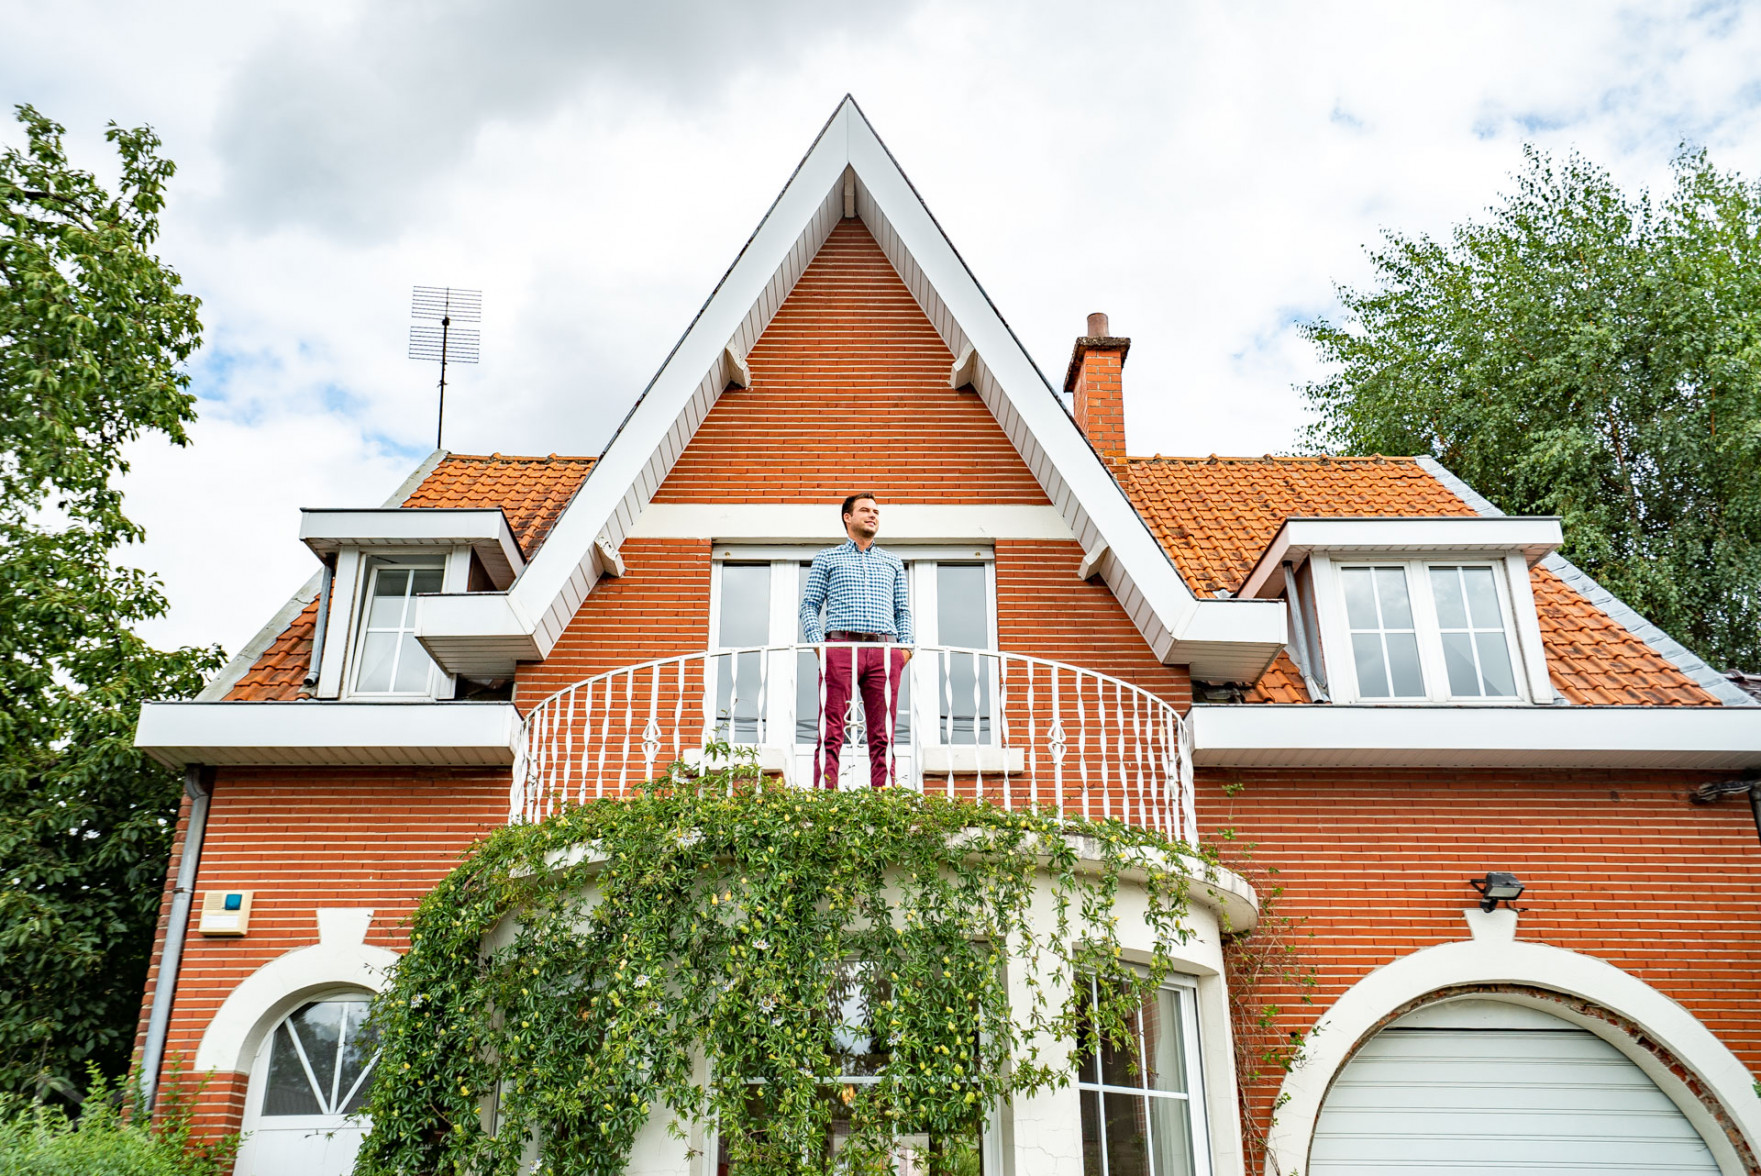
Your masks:
M 1286 1009 L 1275 1035 L 1310 1026 L 1372 970 L 1467 938 L 1467 878 L 1511 870 L 1529 886 L 1518 938 L 1631 972 L 1761 1072 L 1761 842 L 1747 805 L 1689 803 L 1708 778 L 1201 771 L 1199 827 L 1236 831 L 1217 840 L 1226 859 L 1252 843 L 1249 871 L 1277 868 L 1282 912 L 1307 919 L 1293 942 L 1319 986 L 1312 1005 L 1293 988 L 1259 995 Z M 1252 1091 L 1261 1125 L 1280 1079 Z

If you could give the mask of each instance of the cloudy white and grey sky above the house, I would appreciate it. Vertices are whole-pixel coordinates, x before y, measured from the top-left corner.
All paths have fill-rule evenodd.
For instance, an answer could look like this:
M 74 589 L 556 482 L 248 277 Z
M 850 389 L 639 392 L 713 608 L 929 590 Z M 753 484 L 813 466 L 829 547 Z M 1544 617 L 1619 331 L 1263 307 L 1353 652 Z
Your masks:
M 77 162 L 109 171 L 106 120 L 178 160 L 201 421 L 132 454 L 134 558 L 155 641 L 229 651 L 315 567 L 298 507 L 379 505 L 433 447 L 412 283 L 484 290 L 449 449 L 597 454 L 845 92 L 1044 371 L 1090 310 L 1132 336 L 1146 454 L 1289 449 L 1296 326 L 1523 143 L 1631 187 L 1684 143 L 1761 171 L 1740 4 L 0 0 L 0 99 Z

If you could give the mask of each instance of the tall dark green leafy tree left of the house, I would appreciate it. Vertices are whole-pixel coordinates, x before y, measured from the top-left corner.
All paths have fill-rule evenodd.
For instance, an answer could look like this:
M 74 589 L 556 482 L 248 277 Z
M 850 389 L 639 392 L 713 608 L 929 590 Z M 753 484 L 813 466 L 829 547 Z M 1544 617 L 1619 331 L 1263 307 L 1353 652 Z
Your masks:
M 180 780 L 132 746 L 141 701 L 188 695 L 218 650 L 134 634 L 166 611 L 120 567 L 141 539 L 123 445 L 187 444 L 197 299 L 150 246 L 166 181 L 111 123 L 116 194 L 18 107 L 0 153 L 0 1091 L 70 1093 L 134 1040 Z

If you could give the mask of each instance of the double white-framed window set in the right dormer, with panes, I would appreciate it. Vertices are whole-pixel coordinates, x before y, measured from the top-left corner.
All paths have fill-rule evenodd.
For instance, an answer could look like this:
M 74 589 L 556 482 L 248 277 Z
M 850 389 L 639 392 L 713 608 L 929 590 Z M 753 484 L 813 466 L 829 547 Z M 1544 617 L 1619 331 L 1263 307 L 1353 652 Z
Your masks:
M 1525 678 L 1518 673 L 1507 574 L 1502 562 L 1465 560 L 1340 562 L 1326 572 L 1317 569 L 1324 636 L 1324 576 L 1331 576 L 1337 593 L 1324 651 L 1338 701 L 1522 699 Z

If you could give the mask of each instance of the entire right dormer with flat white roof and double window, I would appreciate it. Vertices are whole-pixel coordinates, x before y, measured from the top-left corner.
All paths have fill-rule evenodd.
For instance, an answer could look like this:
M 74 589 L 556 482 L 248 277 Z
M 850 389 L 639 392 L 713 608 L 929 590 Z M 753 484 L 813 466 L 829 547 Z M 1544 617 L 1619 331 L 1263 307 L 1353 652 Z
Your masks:
M 1551 702 L 1529 569 L 1557 519 L 1287 519 L 1242 595 L 1286 600 L 1331 702 Z

